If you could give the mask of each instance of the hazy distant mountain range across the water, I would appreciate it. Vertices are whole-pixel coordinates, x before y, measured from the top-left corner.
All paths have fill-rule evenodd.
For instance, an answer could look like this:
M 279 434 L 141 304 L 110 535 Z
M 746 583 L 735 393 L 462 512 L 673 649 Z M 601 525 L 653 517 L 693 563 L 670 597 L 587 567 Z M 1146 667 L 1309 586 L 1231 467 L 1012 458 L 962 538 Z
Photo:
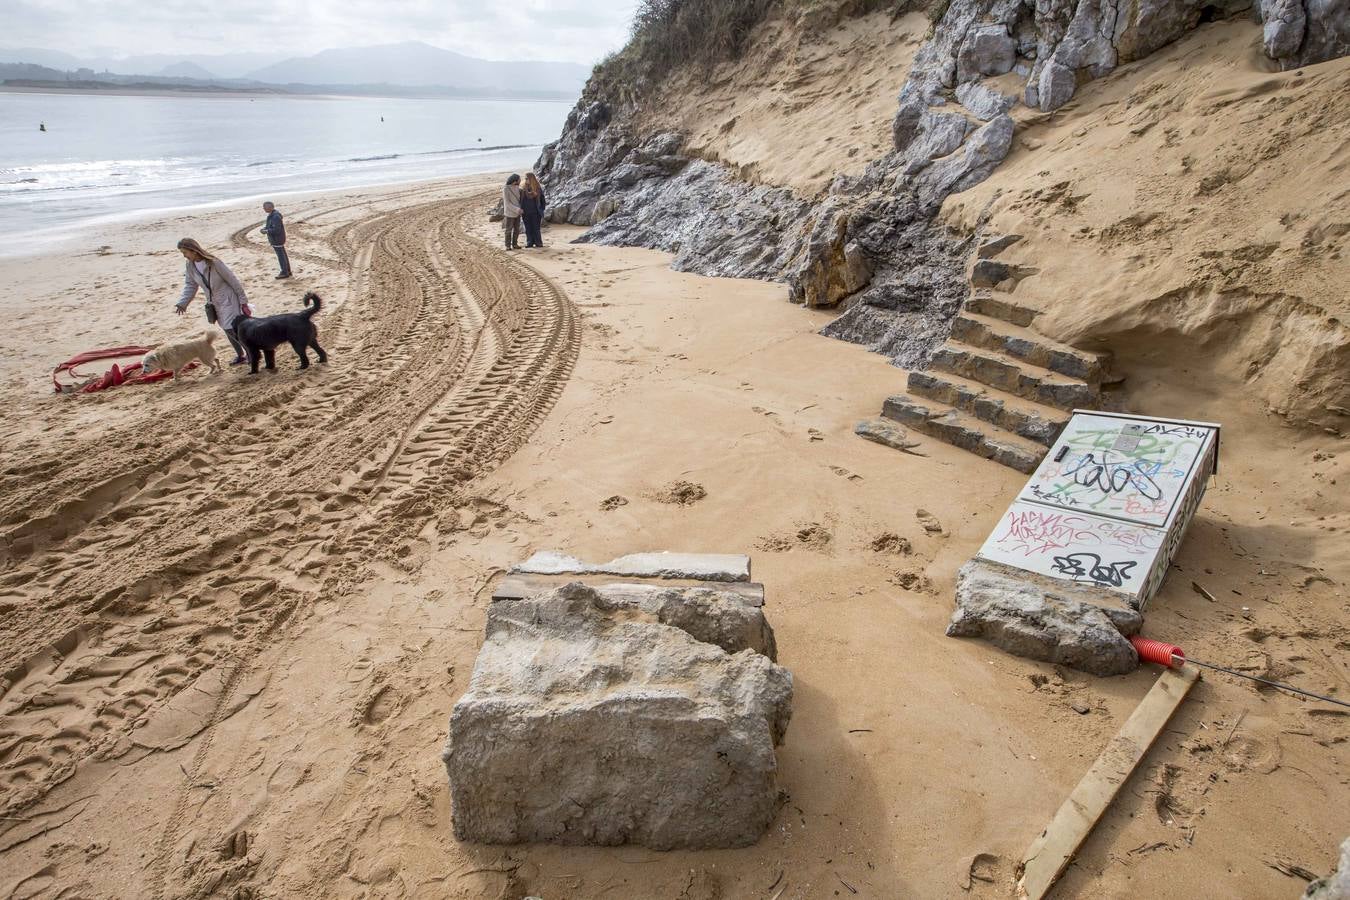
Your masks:
M 20 69 L 22 63 L 27 65 Z M 38 74 L 39 69 L 49 74 Z M 153 54 L 112 59 L 81 58 L 59 50 L 34 47 L 0 49 L 0 80 L 46 78 L 196 89 L 219 85 L 235 90 L 258 86 L 297 92 L 358 89 L 371 93 L 378 88 L 389 88 L 394 93 L 416 94 L 443 92 L 574 97 L 580 93 L 589 74 L 589 66 L 575 62 L 495 62 L 416 40 L 324 50 L 312 57 L 293 58 L 235 53 L 181 57 Z

